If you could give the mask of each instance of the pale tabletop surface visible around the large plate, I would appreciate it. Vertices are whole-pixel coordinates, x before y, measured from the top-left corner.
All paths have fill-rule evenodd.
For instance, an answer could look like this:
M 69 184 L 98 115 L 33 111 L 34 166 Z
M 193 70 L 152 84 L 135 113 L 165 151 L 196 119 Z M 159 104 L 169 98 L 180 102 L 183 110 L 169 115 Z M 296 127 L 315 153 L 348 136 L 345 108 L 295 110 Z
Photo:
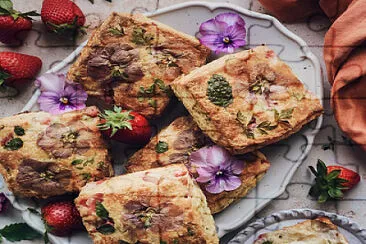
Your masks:
M 14 0 L 16 9 L 23 11 L 37 10 L 40 12 L 40 0 Z M 92 5 L 88 0 L 76 0 L 76 3 L 87 16 L 88 33 L 97 26 L 112 11 L 123 12 L 146 12 L 170 6 L 176 3 L 185 2 L 182 0 L 112 0 L 108 3 L 104 0 L 95 0 Z M 210 1 L 220 2 L 220 1 Z M 249 8 L 258 12 L 265 12 L 256 0 L 232 0 L 222 1 L 237 4 L 244 8 Z M 325 115 L 323 128 L 315 139 L 315 144 L 303 162 L 302 166 L 296 172 L 294 178 L 286 189 L 286 192 L 278 199 L 273 200 L 265 209 L 257 213 L 257 217 L 266 216 L 270 213 L 292 208 L 315 208 L 330 212 L 336 212 L 341 215 L 352 218 L 362 227 L 366 227 L 366 186 L 363 181 L 366 178 L 366 153 L 356 145 L 350 146 L 344 142 L 342 132 L 339 130 L 336 121 L 333 118 L 332 110 L 329 105 L 329 83 L 325 76 L 325 66 L 322 60 L 323 38 L 329 21 L 322 16 L 315 16 L 304 23 L 286 25 L 291 31 L 302 37 L 310 46 L 314 54 L 321 60 L 324 74 L 325 86 Z M 53 65 L 60 62 L 70 52 L 75 50 L 78 43 L 81 43 L 87 37 L 79 39 L 76 44 L 65 41 L 61 38 L 55 38 L 53 34 L 46 33 L 39 19 L 34 23 L 34 29 L 29 33 L 26 41 L 17 47 L 0 46 L 0 51 L 11 50 L 39 56 L 43 60 L 42 72 L 48 70 Z M 11 99 L 0 98 L 0 117 L 17 113 L 30 98 L 33 91 L 32 86 L 25 87 L 21 93 Z M 335 150 L 324 151 L 321 147 L 327 143 L 327 137 L 334 140 Z M 320 158 L 326 163 L 339 163 L 347 165 L 357 170 L 361 174 L 362 182 L 351 192 L 347 193 L 345 199 L 338 202 L 329 202 L 319 205 L 316 201 L 307 196 L 312 176 L 308 170 L 309 165 L 314 165 Z M 11 222 L 20 221 L 20 216 L 15 211 L 9 211 L 6 215 L 0 215 L 0 227 Z M 228 238 L 224 238 L 223 243 Z

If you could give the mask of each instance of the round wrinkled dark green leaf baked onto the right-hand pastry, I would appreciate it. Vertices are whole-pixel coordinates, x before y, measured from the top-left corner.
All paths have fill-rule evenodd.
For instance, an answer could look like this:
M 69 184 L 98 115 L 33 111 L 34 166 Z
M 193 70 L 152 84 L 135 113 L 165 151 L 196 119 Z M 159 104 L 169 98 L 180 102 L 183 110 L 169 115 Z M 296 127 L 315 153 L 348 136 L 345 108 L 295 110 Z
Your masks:
M 227 107 L 233 102 L 232 88 L 222 75 L 214 74 L 208 80 L 207 96 L 213 104 L 220 107 Z

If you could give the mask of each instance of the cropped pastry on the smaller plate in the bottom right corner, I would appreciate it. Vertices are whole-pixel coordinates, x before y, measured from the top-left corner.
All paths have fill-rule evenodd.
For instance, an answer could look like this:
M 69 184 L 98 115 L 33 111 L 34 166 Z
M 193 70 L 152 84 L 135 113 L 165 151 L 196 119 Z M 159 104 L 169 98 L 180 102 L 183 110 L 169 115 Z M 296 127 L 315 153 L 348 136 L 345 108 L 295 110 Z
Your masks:
M 306 220 L 297 225 L 265 233 L 259 236 L 254 244 L 348 244 L 346 238 L 338 231 L 328 218 L 319 217 Z

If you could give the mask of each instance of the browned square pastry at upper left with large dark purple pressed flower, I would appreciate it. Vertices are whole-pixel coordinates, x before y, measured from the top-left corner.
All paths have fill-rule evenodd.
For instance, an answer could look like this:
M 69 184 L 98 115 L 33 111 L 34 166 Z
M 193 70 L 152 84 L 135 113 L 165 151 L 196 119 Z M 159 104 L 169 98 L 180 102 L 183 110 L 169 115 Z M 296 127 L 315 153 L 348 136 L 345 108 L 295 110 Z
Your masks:
M 196 38 L 141 14 L 112 13 L 94 31 L 68 78 L 90 96 L 156 117 L 170 101 L 170 83 L 205 64 L 209 53 Z

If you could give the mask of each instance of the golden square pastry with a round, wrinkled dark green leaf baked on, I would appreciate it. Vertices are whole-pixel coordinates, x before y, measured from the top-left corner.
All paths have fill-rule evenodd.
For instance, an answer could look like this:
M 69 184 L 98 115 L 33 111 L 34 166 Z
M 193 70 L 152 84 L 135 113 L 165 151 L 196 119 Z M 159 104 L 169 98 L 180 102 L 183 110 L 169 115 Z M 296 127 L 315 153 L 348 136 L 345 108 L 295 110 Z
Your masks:
M 226 55 L 171 87 L 202 131 L 233 154 L 284 139 L 323 112 L 319 99 L 265 46 Z

